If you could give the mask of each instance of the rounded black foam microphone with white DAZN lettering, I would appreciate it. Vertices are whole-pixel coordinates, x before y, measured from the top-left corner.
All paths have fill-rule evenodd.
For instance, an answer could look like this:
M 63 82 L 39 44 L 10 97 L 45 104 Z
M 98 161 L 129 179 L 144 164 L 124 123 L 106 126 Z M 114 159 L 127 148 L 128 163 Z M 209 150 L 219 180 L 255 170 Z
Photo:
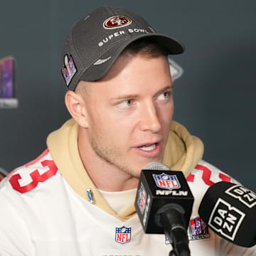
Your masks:
M 199 215 L 220 237 L 242 247 L 256 244 L 256 194 L 241 185 L 220 181 L 206 191 Z

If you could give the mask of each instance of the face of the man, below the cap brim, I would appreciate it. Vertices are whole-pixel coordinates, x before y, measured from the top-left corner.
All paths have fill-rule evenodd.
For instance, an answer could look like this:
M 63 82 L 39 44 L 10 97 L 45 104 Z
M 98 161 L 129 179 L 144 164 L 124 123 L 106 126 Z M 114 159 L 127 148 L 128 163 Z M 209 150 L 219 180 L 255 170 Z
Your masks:
M 172 90 L 164 56 L 121 55 L 85 99 L 95 161 L 135 177 L 161 161 L 174 114 Z

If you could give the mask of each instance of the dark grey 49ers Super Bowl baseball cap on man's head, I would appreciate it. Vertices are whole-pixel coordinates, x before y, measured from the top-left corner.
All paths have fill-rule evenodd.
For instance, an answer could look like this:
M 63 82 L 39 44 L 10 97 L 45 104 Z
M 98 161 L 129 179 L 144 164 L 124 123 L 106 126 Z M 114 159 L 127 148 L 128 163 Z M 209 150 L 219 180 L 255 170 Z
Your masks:
M 63 45 L 61 72 L 68 90 L 80 80 L 102 78 L 124 48 L 141 38 L 151 38 L 168 54 L 184 51 L 175 38 L 156 33 L 144 18 L 119 7 L 101 6 L 81 18 Z

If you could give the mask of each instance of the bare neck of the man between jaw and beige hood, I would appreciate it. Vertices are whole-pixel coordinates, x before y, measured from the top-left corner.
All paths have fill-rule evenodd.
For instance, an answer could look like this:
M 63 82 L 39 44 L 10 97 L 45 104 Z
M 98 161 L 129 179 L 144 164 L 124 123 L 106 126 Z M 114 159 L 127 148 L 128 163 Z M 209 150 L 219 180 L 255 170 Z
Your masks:
M 86 134 L 79 128 L 78 150 L 82 164 L 96 188 L 102 191 L 126 191 L 137 188 L 139 179 L 126 174 L 93 151 Z

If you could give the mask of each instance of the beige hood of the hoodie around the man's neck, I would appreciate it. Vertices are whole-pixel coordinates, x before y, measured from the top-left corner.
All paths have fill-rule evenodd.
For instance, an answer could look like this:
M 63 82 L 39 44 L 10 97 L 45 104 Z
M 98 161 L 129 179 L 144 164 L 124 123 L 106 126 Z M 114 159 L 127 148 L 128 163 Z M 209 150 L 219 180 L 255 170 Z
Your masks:
M 125 221 L 136 214 L 134 205 L 117 214 L 97 191 L 87 175 L 78 151 L 78 123 L 70 119 L 55 132 L 49 134 L 47 145 L 56 166 L 73 190 L 87 198 L 87 188 L 91 188 L 96 206 L 107 211 L 115 218 Z M 181 124 L 173 121 L 169 139 L 164 152 L 164 164 L 172 170 L 183 171 L 188 176 L 203 156 L 203 142 L 193 137 Z

